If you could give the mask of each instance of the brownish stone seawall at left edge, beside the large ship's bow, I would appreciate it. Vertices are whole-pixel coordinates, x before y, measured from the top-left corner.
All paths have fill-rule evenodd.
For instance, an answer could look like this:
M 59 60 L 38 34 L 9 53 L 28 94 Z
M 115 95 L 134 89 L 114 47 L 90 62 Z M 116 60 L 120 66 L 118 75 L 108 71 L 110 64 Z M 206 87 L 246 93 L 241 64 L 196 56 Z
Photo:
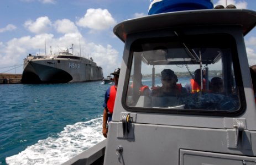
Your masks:
M 9 74 L 1 73 L 0 74 L 0 84 L 19 84 L 22 83 L 22 74 Z

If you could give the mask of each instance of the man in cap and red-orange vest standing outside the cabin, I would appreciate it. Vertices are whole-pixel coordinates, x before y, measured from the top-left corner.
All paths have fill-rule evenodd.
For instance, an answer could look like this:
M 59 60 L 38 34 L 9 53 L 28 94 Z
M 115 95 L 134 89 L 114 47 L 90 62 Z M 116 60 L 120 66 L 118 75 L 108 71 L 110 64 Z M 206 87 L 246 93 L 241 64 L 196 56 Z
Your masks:
M 118 85 L 118 79 L 120 74 L 120 68 L 117 68 L 114 70 L 114 85 L 109 87 L 105 94 L 105 101 L 103 104 L 104 111 L 103 111 L 103 124 L 102 124 L 102 134 L 105 138 L 107 138 L 108 133 L 108 122 L 112 120 L 112 114 L 114 110 L 114 101 L 116 99 L 117 94 L 117 85 Z

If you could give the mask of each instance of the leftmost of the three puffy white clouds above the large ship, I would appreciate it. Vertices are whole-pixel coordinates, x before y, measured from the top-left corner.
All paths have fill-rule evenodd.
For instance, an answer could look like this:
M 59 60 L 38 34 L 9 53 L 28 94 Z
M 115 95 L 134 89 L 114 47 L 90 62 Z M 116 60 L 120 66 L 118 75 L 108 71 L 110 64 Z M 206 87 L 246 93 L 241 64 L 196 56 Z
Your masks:
M 35 34 L 42 34 L 50 30 L 51 21 L 48 17 L 39 17 L 34 22 L 32 20 L 26 21 L 24 27 Z

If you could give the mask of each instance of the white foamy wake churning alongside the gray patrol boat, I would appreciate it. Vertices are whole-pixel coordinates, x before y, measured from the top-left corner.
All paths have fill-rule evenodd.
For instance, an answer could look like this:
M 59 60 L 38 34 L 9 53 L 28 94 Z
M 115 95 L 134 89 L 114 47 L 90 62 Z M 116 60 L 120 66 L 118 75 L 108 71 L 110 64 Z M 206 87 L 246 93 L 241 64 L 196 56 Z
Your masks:
M 9 165 L 61 164 L 104 139 L 102 117 L 96 118 L 67 125 L 56 138 L 39 140 L 17 155 L 7 157 L 6 162 Z

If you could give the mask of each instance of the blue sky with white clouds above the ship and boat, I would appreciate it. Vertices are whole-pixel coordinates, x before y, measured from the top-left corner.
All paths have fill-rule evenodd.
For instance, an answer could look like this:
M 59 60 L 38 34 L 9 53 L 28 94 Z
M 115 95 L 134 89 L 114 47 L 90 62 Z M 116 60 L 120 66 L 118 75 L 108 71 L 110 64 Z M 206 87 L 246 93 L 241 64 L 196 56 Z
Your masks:
M 1 0 L 0 73 L 22 74 L 29 53 L 54 54 L 73 44 L 69 51 L 77 55 L 81 48 L 81 56 L 92 57 L 106 77 L 121 67 L 123 56 L 124 43 L 113 34 L 113 27 L 147 15 L 149 4 L 149 0 Z M 226 0 L 213 4 L 226 6 Z M 227 0 L 227 4 L 256 10 L 256 0 Z M 245 36 L 245 46 L 249 65 L 256 64 L 256 27 Z

